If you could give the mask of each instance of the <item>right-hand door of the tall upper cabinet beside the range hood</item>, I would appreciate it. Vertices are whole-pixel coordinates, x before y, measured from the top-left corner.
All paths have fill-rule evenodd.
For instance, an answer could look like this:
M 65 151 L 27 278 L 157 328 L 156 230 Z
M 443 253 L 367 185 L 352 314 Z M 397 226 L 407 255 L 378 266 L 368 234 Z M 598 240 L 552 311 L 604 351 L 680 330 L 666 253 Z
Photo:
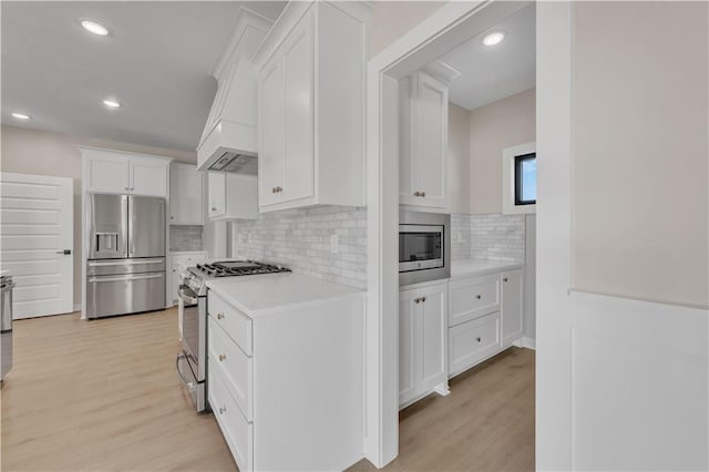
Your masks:
M 287 202 L 315 195 L 312 14 L 311 9 L 282 44 L 286 88 L 286 174 L 280 199 Z

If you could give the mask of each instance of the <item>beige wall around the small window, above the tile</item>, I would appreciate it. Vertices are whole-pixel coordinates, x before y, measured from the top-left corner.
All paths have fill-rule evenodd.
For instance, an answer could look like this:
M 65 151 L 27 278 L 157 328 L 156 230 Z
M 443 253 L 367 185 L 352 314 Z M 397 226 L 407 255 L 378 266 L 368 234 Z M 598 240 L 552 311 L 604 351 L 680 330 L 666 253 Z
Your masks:
M 535 140 L 535 90 L 470 112 L 470 212 L 502 213 L 502 150 Z

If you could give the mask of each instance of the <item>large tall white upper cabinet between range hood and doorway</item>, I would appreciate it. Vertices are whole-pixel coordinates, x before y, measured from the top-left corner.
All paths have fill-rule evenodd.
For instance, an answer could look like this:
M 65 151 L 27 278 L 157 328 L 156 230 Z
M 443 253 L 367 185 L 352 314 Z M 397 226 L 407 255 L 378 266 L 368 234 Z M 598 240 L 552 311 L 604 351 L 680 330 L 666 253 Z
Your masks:
M 370 14 L 366 2 L 290 2 L 257 52 L 260 212 L 364 205 Z

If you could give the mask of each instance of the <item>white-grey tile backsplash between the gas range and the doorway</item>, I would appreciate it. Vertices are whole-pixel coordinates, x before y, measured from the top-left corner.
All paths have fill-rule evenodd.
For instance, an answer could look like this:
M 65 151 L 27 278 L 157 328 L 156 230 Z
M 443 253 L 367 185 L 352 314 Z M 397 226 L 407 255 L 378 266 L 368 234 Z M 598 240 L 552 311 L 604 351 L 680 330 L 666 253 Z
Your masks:
M 282 264 L 299 274 L 367 288 L 364 208 L 288 209 L 233 225 L 238 257 Z

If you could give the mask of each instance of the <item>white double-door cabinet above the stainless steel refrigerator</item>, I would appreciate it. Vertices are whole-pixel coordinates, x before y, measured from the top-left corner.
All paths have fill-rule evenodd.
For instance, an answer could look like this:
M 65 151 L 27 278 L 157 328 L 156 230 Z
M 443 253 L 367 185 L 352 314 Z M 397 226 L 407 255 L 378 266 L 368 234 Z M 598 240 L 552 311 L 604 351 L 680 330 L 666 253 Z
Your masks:
M 85 192 L 167 197 L 168 157 L 82 147 Z

